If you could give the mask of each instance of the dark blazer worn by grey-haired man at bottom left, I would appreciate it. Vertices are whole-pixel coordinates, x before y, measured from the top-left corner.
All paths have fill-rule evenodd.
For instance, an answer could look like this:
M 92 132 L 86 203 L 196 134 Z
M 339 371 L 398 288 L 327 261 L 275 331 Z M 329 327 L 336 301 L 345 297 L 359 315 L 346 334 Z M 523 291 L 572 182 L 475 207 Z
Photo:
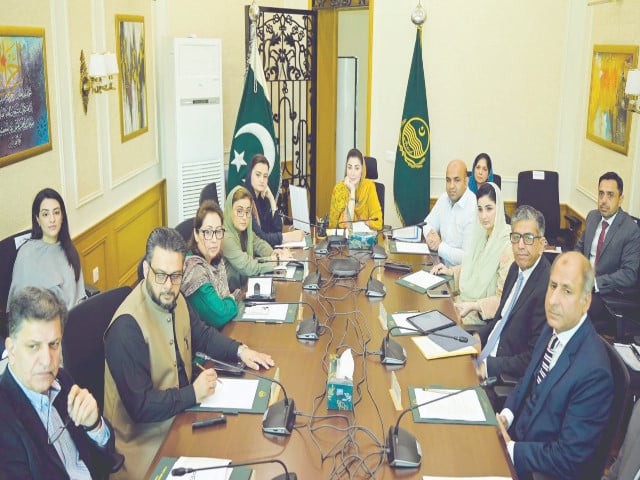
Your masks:
M 60 416 L 67 417 L 67 397 L 73 386 L 71 376 L 62 368 L 58 371 L 61 392 L 53 402 Z M 80 458 L 95 478 L 109 471 L 115 451 L 115 434 L 111 425 L 109 442 L 99 448 L 82 427 L 73 422 L 67 429 Z M 55 446 L 48 445 L 47 431 L 31 402 L 13 379 L 8 369 L 0 376 L 0 479 L 68 479 L 69 476 Z

